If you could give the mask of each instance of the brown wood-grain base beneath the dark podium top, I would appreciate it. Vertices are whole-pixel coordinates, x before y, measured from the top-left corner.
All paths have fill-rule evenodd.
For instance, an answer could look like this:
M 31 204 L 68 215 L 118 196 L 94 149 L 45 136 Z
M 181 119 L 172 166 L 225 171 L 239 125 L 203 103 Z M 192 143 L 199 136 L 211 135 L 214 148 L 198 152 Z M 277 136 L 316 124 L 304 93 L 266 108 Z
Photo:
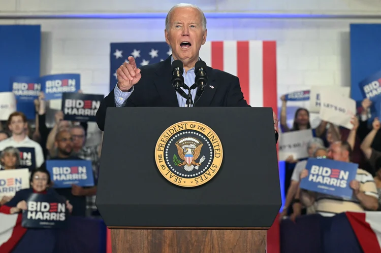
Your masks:
M 112 253 L 265 253 L 266 232 L 112 228 Z

